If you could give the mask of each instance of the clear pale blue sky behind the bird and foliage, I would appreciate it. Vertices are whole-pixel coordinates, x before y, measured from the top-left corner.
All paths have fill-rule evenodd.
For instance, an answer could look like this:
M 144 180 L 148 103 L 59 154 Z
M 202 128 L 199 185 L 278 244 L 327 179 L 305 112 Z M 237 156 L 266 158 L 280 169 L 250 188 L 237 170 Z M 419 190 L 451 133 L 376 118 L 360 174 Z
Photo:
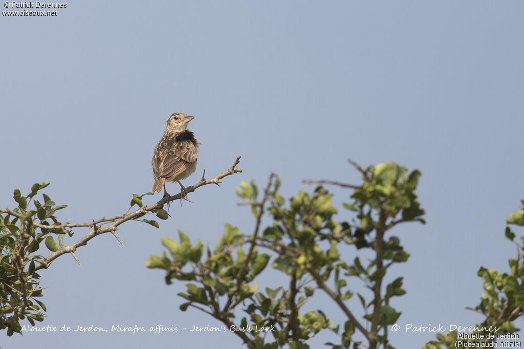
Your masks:
M 56 17 L 2 16 L 2 208 L 13 206 L 15 188 L 49 181 L 46 193 L 69 205 L 63 221 L 124 213 L 133 193 L 151 188 L 152 150 L 173 112 L 194 115 L 190 128 L 202 141 L 184 184 L 237 155 L 244 169 L 221 188 L 192 193 L 194 204 L 172 205 L 159 230 L 124 224 L 125 248 L 106 234 L 78 250 L 82 267 L 57 259 L 41 272 L 43 324 L 216 324 L 181 312 L 183 284 L 166 286 L 161 271 L 144 267 L 161 253 L 160 238 L 180 229 L 214 246 L 225 222 L 251 232 L 249 210 L 236 206 L 239 181 L 262 186 L 276 171 L 285 197 L 313 190 L 304 178 L 358 184 L 348 158 L 422 172 L 428 223 L 394 231 L 411 254 L 392 269 L 407 290 L 392 304 L 398 323 L 481 321 L 464 309 L 482 293 L 476 271 L 507 271 L 515 248 L 505 220 L 524 198 L 523 10 L 519 1 L 91 1 L 69 2 Z M 348 201 L 349 191 L 330 189 L 335 203 Z M 330 317 L 342 319 L 334 309 Z M 434 338 L 400 332 L 390 337 L 397 347 Z M 0 338 L 2 348 L 242 347 L 231 333 Z

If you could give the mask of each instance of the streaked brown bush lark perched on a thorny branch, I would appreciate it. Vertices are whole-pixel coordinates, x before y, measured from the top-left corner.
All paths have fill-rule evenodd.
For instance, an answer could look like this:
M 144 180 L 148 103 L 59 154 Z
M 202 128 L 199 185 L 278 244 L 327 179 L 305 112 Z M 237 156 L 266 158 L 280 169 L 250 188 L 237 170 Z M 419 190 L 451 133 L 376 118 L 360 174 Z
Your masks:
M 187 178 L 196 170 L 197 149 L 201 141 L 187 129 L 192 119 L 194 116 L 183 113 L 171 114 L 167 120 L 166 130 L 155 146 L 151 159 L 155 177 L 151 192 L 160 192 L 163 187 L 168 209 L 169 194 L 166 191 L 166 181 L 178 182 L 182 193 L 185 188 L 180 180 Z

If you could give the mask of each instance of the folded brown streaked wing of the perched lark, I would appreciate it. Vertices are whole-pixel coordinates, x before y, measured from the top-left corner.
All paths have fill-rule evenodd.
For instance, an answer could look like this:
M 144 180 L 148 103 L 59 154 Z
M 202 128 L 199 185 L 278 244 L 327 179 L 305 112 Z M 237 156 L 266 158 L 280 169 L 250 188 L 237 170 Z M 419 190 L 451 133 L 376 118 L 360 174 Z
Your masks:
M 176 141 L 165 156 L 152 160 L 155 177 L 176 178 L 196 161 L 196 148 L 190 139 Z

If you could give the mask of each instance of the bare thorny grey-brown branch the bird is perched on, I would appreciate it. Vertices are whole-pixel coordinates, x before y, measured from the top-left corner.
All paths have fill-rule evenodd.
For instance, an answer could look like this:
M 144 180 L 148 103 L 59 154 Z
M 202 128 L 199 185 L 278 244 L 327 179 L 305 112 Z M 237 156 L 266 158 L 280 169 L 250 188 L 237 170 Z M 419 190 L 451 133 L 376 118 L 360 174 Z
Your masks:
M 216 184 L 218 186 L 220 183 L 222 183 L 220 181 L 222 178 L 227 177 L 227 176 L 231 176 L 231 174 L 242 172 L 241 168 L 237 168 L 236 167 L 239 162 L 240 162 L 240 157 L 237 156 L 236 159 L 235 159 L 235 162 L 233 163 L 233 166 L 231 166 L 225 172 L 221 172 L 221 173 L 217 174 L 217 176 L 212 178 L 212 179 L 205 179 L 204 176 L 202 175 L 202 179 L 200 181 L 198 181 L 196 184 L 194 184 L 193 186 L 185 188 L 185 190 L 183 190 L 181 193 L 179 193 L 177 195 L 170 196 L 169 197 L 169 202 L 174 201 L 174 200 L 178 200 L 178 199 L 182 199 L 188 193 L 192 193 L 197 188 L 200 188 L 202 186 L 206 186 L 208 184 Z M 39 269 L 42 269 L 42 268 L 47 268 L 49 266 L 49 264 L 53 260 L 57 259 L 58 257 L 60 257 L 63 254 L 71 253 L 73 255 L 73 257 L 75 257 L 75 255 L 74 255 L 75 250 L 77 250 L 77 248 L 80 247 L 80 246 L 87 245 L 88 241 L 90 241 L 96 235 L 101 235 L 101 234 L 104 234 L 104 233 L 112 233 L 112 234 L 115 235 L 115 237 L 117 237 L 118 241 L 120 241 L 120 239 L 116 235 L 116 231 L 118 230 L 118 226 L 119 225 L 121 225 L 122 223 L 125 223 L 127 221 L 130 221 L 130 220 L 138 219 L 140 216 L 144 215 L 145 213 L 151 213 L 151 212 L 153 212 L 153 211 L 155 211 L 157 209 L 160 209 L 160 208 L 163 207 L 163 205 L 165 203 L 166 203 L 166 198 L 162 197 L 162 199 L 160 201 L 158 201 L 157 203 L 149 205 L 149 206 L 143 206 L 143 207 L 139 208 L 138 210 L 136 210 L 134 212 L 126 213 L 126 214 L 123 214 L 123 215 L 114 216 L 112 218 L 102 217 L 101 219 L 99 219 L 97 221 L 93 221 L 91 223 L 69 223 L 69 221 L 68 221 L 68 222 L 66 222 L 64 224 L 61 224 L 61 225 L 51 225 L 50 226 L 50 225 L 40 224 L 40 223 L 36 223 L 36 222 L 31 222 L 31 224 L 33 226 L 39 227 L 39 228 L 43 228 L 43 229 L 46 229 L 46 230 L 50 230 L 50 229 L 60 230 L 60 229 L 63 229 L 63 228 L 75 228 L 75 227 L 89 227 L 89 228 L 91 228 L 91 231 L 87 235 L 82 237 L 79 241 L 77 241 L 77 242 L 75 242 L 75 243 L 73 243 L 71 245 L 60 246 L 60 248 L 56 252 L 52 253 L 51 255 L 49 255 L 48 257 L 46 257 L 42 261 L 40 261 L 40 263 L 38 263 L 35 266 L 35 271 L 39 270 Z M 24 216 L 22 214 L 14 212 L 14 211 L 9 210 L 9 209 L 0 209 L 0 213 L 7 213 L 9 215 L 19 217 L 20 219 L 24 218 Z M 109 225 L 107 225 L 107 224 L 109 224 Z M 106 225 L 106 226 L 103 226 L 103 225 Z M 75 259 L 78 261 L 78 258 L 75 258 Z M 79 264 L 80 264 L 80 262 L 79 262 Z M 26 270 L 26 272 L 27 271 L 28 270 Z

